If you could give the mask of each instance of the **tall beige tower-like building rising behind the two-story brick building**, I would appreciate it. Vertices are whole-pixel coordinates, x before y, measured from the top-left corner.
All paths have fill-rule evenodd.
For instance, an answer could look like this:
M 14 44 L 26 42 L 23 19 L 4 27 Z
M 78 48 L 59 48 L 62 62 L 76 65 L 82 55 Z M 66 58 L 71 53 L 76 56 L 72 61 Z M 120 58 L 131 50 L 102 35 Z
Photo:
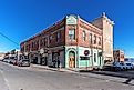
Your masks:
M 95 19 L 92 24 L 96 26 L 103 31 L 103 59 L 106 62 L 112 62 L 113 60 L 113 26 L 114 22 L 111 21 L 103 12 L 102 17 Z

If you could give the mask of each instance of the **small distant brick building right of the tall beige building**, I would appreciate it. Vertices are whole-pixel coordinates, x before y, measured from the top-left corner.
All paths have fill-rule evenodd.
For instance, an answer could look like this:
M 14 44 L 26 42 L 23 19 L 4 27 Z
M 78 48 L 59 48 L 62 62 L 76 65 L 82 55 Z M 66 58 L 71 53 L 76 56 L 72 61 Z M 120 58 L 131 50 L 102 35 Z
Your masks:
M 114 50 L 114 61 L 124 62 L 124 51 Z

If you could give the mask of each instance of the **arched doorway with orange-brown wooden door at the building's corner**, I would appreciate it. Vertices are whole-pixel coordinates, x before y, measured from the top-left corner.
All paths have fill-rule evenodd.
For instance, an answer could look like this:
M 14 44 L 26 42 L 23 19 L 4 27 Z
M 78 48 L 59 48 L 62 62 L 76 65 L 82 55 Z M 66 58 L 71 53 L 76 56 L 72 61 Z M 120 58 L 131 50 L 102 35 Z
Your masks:
M 75 68 L 75 52 L 69 52 L 69 68 Z

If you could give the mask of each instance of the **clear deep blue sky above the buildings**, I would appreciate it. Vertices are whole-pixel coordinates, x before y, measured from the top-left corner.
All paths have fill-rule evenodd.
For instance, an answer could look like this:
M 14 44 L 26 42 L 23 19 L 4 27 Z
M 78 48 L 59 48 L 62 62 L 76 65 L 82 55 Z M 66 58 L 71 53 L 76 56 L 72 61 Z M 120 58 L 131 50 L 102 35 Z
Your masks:
M 134 57 L 134 0 L 0 0 L 0 32 L 20 43 L 65 14 L 87 21 L 106 12 L 114 22 L 114 48 Z M 0 52 L 19 46 L 0 36 Z

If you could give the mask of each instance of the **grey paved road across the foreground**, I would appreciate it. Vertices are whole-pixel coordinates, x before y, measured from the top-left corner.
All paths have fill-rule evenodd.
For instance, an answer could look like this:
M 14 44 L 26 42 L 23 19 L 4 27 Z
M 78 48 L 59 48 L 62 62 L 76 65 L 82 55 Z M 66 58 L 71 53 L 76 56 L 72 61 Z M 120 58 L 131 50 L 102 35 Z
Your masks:
M 0 62 L 0 90 L 134 90 L 133 86 L 76 73 L 19 69 Z

